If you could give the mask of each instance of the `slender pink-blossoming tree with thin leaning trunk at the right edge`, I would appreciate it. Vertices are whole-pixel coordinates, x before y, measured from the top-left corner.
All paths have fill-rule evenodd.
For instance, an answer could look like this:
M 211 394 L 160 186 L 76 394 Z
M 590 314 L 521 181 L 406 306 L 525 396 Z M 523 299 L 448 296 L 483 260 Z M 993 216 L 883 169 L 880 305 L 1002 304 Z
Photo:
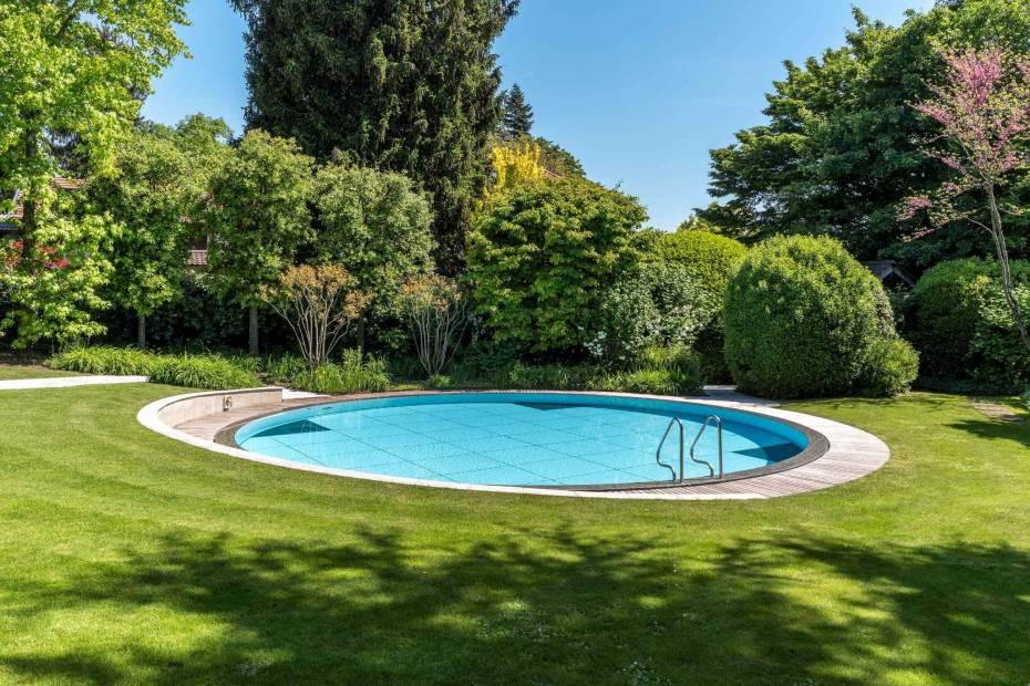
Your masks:
M 1012 276 L 1002 215 L 1018 214 L 1000 199 L 1001 188 L 1019 172 L 1030 169 L 1030 59 L 1001 49 L 943 53 L 948 81 L 931 86 L 935 97 L 915 107 L 940 125 L 926 150 L 955 172 L 954 178 L 930 195 L 908 198 L 900 212 L 910 220 L 926 212 L 933 228 L 969 221 L 987 231 L 1001 268 L 1001 287 L 1027 350 L 1030 334 L 1012 293 Z M 957 205 L 977 197 L 975 209 Z M 986 207 L 990 221 L 978 219 Z

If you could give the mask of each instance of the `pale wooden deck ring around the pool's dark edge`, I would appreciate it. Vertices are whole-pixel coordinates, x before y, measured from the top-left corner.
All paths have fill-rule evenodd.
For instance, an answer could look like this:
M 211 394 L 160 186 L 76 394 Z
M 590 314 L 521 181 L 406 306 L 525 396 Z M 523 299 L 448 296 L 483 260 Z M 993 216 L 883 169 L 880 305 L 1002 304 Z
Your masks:
M 503 393 L 511 393 L 501 391 Z M 234 393 L 244 392 L 225 392 L 226 396 Z M 193 394 L 188 396 L 177 396 L 177 398 L 166 398 L 158 401 L 140 413 L 140 420 L 167 436 L 186 440 L 193 445 L 206 447 L 217 453 L 275 464 L 282 467 L 303 469 L 307 471 L 318 471 L 337 476 L 367 478 L 379 481 L 411 484 L 421 486 L 432 486 L 440 488 L 455 488 L 461 490 L 477 491 L 496 491 L 496 492 L 515 492 L 515 493 L 535 493 L 546 496 L 568 496 L 568 497 L 587 497 L 587 498 L 627 498 L 627 499 L 661 499 L 661 500 L 721 500 L 721 499 L 761 499 L 777 498 L 781 496 L 792 496 L 846 484 L 862 478 L 883 467 L 890 457 L 890 450 L 880 439 L 867 432 L 855 427 L 796 412 L 780 409 L 770 406 L 766 402 L 752 402 L 745 396 L 739 396 L 731 393 L 721 394 L 721 398 L 700 397 L 700 398 L 673 398 L 668 396 L 640 396 L 618 393 L 606 394 L 585 394 L 585 395 L 611 395 L 628 397 L 645 397 L 662 401 L 680 401 L 693 404 L 710 405 L 713 407 L 728 407 L 734 409 L 744 409 L 760 415 L 769 416 L 774 419 L 783 419 L 807 428 L 811 432 L 820 434 L 828 441 L 828 449 L 816 459 L 775 474 L 762 474 L 746 478 L 729 478 L 728 480 L 708 482 L 708 484 L 670 484 L 669 486 L 656 486 L 647 489 L 625 489 L 625 490 L 562 490 L 562 489 L 542 489 L 524 488 L 508 486 L 478 486 L 478 485 L 454 485 L 441 484 L 436 481 L 420 481 L 416 479 L 402 479 L 393 477 L 382 477 L 378 475 L 365 475 L 337 470 L 329 468 L 308 467 L 303 465 L 293 465 L 284 460 L 265 458 L 255 454 L 249 454 L 239 448 L 220 445 L 216 437 L 220 432 L 239 423 L 253 418 L 267 416 L 286 409 L 307 407 L 310 405 L 358 399 L 362 397 L 381 397 L 383 395 L 424 395 L 424 392 L 394 393 L 394 394 L 362 394 L 343 397 L 301 397 L 287 398 L 280 402 L 261 402 L 246 407 L 234 407 L 227 403 L 228 409 L 205 414 L 188 420 L 168 426 L 161 422 L 158 415 L 162 409 L 167 409 L 169 403 L 185 402 L 195 396 L 209 396 L 210 394 Z M 565 392 L 563 392 L 565 394 Z M 719 397 L 719 396 L 717 396 Z M 209 398 L 208 398 L 209 399 Z M 150 412 L 148 412 L 150 410 Z

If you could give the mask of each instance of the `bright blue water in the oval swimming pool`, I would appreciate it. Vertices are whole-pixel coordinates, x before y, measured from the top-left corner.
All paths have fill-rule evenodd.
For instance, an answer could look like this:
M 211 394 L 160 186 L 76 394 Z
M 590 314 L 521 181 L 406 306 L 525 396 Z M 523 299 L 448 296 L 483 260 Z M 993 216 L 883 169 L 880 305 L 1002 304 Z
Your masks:
M 254 453 L 374 475 L 503 486 L 668 481 L 655 450 L 670 417 L 689 444 L 704 418 L 723 420 L 727 474 L 793 457 L 807 439 L 756 415 L 687 403 L 544 393 L 421 395 L 320 405 L 257 419 L 236 433 Z M 717 465 L 717 436 L 698 456 Z M 676 430 L 662 459 L 678 468 Z M 715 467 L 718 469 L 718 465 Z M 687 459 L 687 477 L 708 469 Z

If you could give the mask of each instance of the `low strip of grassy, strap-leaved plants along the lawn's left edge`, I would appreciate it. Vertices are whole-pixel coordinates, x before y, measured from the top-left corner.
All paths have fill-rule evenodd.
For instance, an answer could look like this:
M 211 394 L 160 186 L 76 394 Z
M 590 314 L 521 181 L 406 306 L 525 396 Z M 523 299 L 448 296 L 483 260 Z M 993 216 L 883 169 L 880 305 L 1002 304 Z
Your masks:
M 148 376 L 155 384 L 220 391 L 259 386 L 253 373 L 219 355 L 158 355 L 132 347 L 93 346 L 70 350 L 51 357 L 55 370 L 85 374 Z

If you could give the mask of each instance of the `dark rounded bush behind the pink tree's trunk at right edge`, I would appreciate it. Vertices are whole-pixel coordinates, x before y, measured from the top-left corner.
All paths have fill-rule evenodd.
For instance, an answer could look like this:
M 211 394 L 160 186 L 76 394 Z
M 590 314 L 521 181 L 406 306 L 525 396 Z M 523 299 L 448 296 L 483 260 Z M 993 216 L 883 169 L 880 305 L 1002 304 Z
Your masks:
M 1030 314 L 1030 262 L 1011 264 L 1014 293 Z M 908 336 L 931 378 L 970 381 L 1018 393 L 1030 383 L 1030 354 L 1005 302 L 998 266 L 976 258 L 941 262 L 913 291 Z

